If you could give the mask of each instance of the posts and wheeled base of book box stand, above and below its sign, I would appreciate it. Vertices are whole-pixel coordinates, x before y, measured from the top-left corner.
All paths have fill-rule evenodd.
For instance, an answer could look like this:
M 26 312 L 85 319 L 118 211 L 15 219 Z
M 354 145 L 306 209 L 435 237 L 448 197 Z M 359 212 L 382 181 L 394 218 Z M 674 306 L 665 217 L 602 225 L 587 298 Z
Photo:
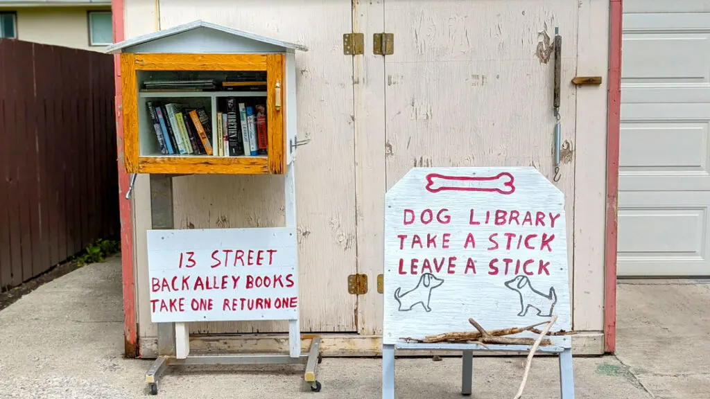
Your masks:
M 285 222 L 295 226 L 295 173 L 291 163 L 285 176 Z M 173 229 L 173 175 L 151 174 L 151 224 L 153 229 Z M 295 238 L 294 238 L 295 239 Z M 151 394 L 158 394 L 158 381 L 169 366 L 226 364 L 305 364 L 304 380 L 314 392 L 320 392 L 316 378 L 322 361 L 320 337 L 311 339 L 310 349 L 301 352 L 299 319 L 289 320 L 288 354 L 192 354 L 187 324 L 158 323 L 158 358 L 146 372 Z

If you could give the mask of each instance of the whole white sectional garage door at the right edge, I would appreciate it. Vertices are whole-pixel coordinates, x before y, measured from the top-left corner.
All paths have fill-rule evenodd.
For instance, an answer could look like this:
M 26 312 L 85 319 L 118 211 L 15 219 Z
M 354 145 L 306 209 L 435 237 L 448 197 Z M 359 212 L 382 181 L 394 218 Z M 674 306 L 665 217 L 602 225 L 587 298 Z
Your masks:
M 710 275 L 710 1 L 626 0 L 618 275 Z

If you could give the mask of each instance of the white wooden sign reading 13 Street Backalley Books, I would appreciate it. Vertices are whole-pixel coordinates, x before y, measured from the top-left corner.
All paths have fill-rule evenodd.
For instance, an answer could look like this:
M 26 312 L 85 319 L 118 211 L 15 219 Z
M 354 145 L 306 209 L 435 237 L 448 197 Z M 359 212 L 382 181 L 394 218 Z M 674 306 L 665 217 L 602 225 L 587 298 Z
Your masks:
M 293 227 L 149 230 L 153 322 L 298 318 Z

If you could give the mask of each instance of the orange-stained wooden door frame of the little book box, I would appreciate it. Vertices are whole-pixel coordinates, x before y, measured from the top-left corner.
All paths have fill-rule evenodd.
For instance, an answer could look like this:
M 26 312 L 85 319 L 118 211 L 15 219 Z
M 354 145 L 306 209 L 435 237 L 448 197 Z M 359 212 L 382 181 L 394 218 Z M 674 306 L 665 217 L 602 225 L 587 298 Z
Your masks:
M 286 173 L 283 115 L 285 114 L 283 54 L 121 54 L 121 94 L 124 163 L 128 173 Z M 138 138 L 138 70 L 267 71 L 266 108 L 268 157 L 142 156 Z M 280 86 L 280 93 L 276 86 Z M 280 109 L 276 96 L 280 94 Z M 213 110 L 214 111 L 214 110 Z

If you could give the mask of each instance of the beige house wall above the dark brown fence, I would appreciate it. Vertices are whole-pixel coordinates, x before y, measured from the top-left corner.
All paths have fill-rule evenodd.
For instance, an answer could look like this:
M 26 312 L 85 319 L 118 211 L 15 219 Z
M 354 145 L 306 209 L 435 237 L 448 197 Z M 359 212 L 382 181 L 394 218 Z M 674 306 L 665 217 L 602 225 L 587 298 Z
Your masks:
M 0 7 L 17 13 L 17 38 L 34 43 L 103 51 L 89 45 L 88 11 L 111 11 L 110 7 Z

